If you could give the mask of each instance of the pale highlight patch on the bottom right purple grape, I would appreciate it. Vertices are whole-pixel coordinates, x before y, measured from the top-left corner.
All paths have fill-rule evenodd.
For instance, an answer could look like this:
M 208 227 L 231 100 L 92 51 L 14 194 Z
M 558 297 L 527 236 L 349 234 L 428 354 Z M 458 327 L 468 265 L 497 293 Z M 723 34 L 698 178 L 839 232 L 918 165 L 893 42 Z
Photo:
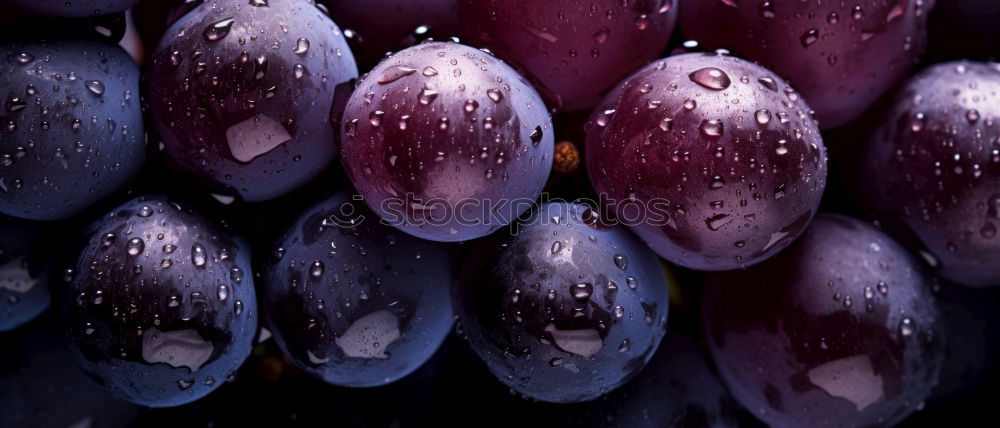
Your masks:
M 884 397 L 882 376 L 875 374 L 867 355 L 823 363 L 809 370 L 809 381 L 834 397 L 854 403 L 858 411 Z

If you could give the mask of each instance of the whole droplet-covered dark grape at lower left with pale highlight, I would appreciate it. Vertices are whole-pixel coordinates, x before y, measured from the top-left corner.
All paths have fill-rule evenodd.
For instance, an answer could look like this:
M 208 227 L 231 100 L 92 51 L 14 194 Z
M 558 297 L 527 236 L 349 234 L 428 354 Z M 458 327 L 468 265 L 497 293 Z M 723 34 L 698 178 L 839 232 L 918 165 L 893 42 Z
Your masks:
M 242 239 L 163 196 L 123 204 L 82 239 L 67 330 L 83 369 L 112 395 L 188 403 L 250 354 L 257 299 Z

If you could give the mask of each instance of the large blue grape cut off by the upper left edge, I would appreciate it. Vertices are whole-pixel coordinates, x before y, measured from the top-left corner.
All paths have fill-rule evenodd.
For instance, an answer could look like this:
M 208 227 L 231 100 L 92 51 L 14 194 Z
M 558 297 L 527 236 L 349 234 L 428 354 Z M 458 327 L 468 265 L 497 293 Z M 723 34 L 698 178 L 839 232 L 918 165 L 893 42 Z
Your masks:
M 139 68 L 128 54 L 88 40 L 4 42 L 0 52 L 0 212 L 65 219 L 139 171 Z

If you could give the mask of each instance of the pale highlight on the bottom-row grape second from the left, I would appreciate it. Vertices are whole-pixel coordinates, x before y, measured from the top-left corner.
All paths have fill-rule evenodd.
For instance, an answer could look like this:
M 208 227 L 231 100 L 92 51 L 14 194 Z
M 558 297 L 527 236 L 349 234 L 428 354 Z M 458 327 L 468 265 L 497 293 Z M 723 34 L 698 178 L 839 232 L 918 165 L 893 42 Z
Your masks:
M 389 358 L 385 348 L 397 339 L 399 318 L 382 309 L 358 318 L 334 342 L 348 357 Z

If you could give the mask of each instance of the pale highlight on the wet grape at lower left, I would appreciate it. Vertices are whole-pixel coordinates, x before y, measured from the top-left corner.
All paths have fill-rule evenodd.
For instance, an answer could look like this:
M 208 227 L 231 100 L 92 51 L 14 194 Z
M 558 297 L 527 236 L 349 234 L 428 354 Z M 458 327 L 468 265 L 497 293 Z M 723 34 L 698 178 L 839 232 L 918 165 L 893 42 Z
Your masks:
M 159 331 L 151 328 L 142 336 L 142 359 L 149 363 L 167 363 L 196 372 L 212 357 L 214 346 L 194 329 Z

